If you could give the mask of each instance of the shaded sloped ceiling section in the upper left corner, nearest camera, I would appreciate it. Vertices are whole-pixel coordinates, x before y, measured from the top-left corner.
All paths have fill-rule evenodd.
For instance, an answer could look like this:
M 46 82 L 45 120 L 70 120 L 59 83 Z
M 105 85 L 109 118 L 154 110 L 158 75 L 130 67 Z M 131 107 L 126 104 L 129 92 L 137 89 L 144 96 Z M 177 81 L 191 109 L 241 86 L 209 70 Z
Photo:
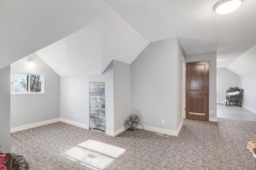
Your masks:
M 0 68 L 104 18 L 102 0 L 1 0 Z

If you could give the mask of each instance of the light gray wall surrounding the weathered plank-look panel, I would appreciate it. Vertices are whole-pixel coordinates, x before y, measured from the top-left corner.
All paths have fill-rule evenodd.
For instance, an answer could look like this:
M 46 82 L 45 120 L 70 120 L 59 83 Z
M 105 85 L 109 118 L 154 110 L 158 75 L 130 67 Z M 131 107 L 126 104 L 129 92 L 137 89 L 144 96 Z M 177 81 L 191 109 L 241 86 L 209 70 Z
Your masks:
M 113 61 L 102 75 L 60 77 L 60 118 L 89 126 L 90 82 L 105 82 L 106 131 L 114 132 Z

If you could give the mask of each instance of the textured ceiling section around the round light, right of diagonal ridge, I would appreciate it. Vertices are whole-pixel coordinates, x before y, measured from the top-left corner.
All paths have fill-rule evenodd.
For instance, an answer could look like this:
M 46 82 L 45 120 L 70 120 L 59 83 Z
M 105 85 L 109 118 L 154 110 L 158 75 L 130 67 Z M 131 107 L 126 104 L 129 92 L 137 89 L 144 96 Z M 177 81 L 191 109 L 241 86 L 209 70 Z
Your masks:
M 256 44 L 256 0 L 216 14 L 218 0 L 105 0 L 150 42 L 178 37 L 185 53 L 217 51 L 226 67 Z

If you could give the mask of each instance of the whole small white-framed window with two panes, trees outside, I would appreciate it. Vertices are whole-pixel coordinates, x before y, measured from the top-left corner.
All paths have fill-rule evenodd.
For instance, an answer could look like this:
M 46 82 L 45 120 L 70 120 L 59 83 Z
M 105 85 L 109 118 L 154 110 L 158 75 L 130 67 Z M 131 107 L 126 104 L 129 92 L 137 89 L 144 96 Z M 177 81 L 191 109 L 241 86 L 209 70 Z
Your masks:
M 44 93 L 44 75 L 12 73 L 11 94 Z

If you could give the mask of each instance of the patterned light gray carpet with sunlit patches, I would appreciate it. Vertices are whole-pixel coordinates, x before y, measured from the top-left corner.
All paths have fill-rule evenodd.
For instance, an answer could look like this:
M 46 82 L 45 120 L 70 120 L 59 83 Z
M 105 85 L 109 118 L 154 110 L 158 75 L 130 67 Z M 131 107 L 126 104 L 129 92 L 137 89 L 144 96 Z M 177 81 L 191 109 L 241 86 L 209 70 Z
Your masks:
M 256 140 L 255 127 L 254 121 L 185 119 L 178 136 L 139 130 L 111 137 L 58 122 L 12 133 L 11 152 L 26 157 L 31 170 L 255 170 L 246 149 Z

